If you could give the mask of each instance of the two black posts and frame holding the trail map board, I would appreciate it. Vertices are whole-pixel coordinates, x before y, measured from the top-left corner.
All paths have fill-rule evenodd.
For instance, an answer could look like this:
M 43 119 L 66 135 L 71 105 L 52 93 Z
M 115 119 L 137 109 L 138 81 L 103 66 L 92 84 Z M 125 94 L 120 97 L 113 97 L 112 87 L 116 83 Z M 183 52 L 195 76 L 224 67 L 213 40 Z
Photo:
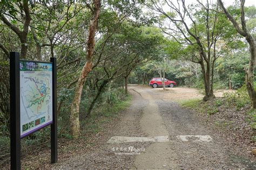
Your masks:
M 10 143 L 11 169 L 21 169 L 21 78 L 19 52 L 10 52 Z M 33 61 L 30 61 L 33 62 Z M 57 152 L 57 59 L 52 64 L 52 123 L 51 125 L 51 162 L 58 161 Z M 43 62 L 47 63 L 47 62 Z M 43 94 L 42 94 L 43 95 Z M 43 120 L 45 121 L 45 120 Z M 48 124 L 47 124 L 48 125 Z M 45 126 L 47 126 L 45 125 Z M 42 126 L 45 127 L 45 126 Z M 39 130 L 40 128 L 38 128 Z M 36 130 L 35 130 L 36 131 Z M 31 132 L 32 133 L 32 132 Z

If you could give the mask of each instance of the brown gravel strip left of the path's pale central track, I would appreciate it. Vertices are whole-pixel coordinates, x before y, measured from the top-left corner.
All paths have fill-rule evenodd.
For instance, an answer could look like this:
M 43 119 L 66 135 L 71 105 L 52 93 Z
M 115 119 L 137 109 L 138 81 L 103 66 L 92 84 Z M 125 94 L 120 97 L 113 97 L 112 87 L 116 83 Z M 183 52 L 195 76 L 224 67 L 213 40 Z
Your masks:
M 108 123 L 104 130 L 97 134 L 93 146 L 86 152 L 78 153 L 75 157 L 68 160 L 59 161 L 51 168 L 135 168 L 134 160 L 136 154 L 123 154 L 124 148 L 143 148 L 147 147 L 149 143 L 131 142 L 129 144 L 106 144 L 112 136 L 130 136 L 130 137 L 144 137 L 145 133 L 140 130 L 140 118 L 143 107 L 147 105 L 147 100 L 142 100 L 142 97 L 130 91 L 133 96 L 131 106 L 120 113 L 116 121 Z M 116 155 L 118 154 L 118 155 Z

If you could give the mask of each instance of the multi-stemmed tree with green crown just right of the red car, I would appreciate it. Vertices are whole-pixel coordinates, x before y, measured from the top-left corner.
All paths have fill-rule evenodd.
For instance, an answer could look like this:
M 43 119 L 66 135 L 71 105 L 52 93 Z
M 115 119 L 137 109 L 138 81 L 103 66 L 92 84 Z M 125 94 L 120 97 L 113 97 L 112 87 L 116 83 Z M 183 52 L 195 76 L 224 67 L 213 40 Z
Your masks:
M 170 11 L 166 11 L 157 1 L 147 4 L 149 8 L 160 13 L 159 27 L 161 30 L 172 37 L 178 44 L 176 47 L 181 51 L 180 55 L 191 62 L 198 63 L 203 73 L 205 97 L 208 100 L 214 97 L 213 79 L 215 61 L 227 50 L 227 46 L 222 45 L 232 37 L 232 28 L 225 22 L 220 13 L 209 10 L 218 10 L 217 4 L 191 4 L 186 5 L 184 0 L 165 1 Z M 170 24 L 164 24 L 169 21 Z M 192 24 L 188 25 L 188 21 Z M 218 47 L 217 47 L 218 46 Z M 173 48 L 172 48 L 173 49 Z

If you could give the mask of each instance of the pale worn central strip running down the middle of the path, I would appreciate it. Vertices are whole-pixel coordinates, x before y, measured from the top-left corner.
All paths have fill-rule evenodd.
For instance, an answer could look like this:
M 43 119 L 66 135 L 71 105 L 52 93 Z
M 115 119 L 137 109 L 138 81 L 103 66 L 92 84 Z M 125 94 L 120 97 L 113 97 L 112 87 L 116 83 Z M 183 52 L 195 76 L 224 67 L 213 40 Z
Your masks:
M 164 121 L 160 115 L 158 105 L 149 93 L 144 89 L 133 89 L 137 91 L 148 104 L 143 108 L 140 127 L 149 137 L 169 136 Z M 137 155 L 135 161 L 136 168 L 177 168 L 177 155 L 173 151 L 173 143 L 156 142 L 146 148 L 146 151 Z

